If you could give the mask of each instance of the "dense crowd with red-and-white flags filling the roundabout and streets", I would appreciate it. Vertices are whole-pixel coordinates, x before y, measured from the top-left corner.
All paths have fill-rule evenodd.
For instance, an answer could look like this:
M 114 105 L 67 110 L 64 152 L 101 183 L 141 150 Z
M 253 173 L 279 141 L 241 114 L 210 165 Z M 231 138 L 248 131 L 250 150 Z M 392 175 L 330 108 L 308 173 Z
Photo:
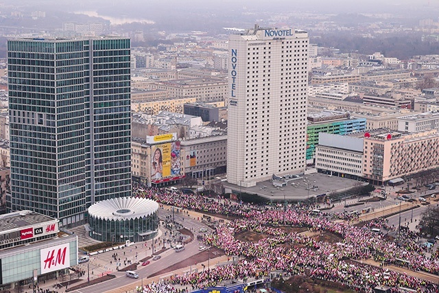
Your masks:
M 388 242 L 383 235 L 370 231 L 372 226 L 391 230 L 392 227 L 383 220 L 358 228 L 346 223 L 355 220 L 355 215 L 337 215 L 337 218 L 345 221 L 331 221 L 313 215 L 306 207 L 291 207 L 286 211 L 278 207 L 253 207 L 241 202 L 212 200 L 156 188 L 141 189 L 134 195 L 180 208 L 239 217 L 218 226 L 215 233 L 204 237 L 204 242 L 224 250 L 227 255 L 241 255 L 246 260 L 204 272 L 171 277 L 171 281 L 181 285 L 213 286 L 228 279 L 246 280 L 263 277 L 272 270 L 283 270 L 338 281 L 364 292 L 371 292 L 377 285 L 388 285 L 392 292 L 399 292 L 400 287 L 418 292 L 438 292 L 438 287 L 428 281 L 361 263 L 372 257 L 382 264 L 403 260 L 410 270 L 439 274 L 438 259 L 427 258 L 416 243 L 407 241 L 400 245 Z M 319 242 L 316 237 L 287 233 L 280 226 L 304 226 L 311 232 L 340 235 L 342 240 L 335 244 Z M 243 242 L 235 238 L 237 233 L 243 231 L 254 231 L 268 237 L 257 243 Z M 357 261 L 352 262 L 351 259 Z

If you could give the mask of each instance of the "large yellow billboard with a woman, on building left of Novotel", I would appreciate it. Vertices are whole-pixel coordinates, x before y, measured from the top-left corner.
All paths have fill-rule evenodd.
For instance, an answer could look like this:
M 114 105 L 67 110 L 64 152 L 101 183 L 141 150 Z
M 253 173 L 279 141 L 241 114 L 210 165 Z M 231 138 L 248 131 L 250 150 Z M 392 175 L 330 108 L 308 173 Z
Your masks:
M 180 161 L 180 141 L 151 146 L 151 182 L 184 178 Z

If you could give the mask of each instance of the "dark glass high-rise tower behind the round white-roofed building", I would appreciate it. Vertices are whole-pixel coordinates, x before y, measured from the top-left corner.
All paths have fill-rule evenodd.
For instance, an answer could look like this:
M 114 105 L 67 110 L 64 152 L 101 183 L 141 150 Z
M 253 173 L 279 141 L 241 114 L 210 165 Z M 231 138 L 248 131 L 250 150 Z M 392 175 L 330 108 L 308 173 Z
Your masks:
M 75 224 L 131 195 L 129 39 L 9 40 L 8 83 L 8 211 Z

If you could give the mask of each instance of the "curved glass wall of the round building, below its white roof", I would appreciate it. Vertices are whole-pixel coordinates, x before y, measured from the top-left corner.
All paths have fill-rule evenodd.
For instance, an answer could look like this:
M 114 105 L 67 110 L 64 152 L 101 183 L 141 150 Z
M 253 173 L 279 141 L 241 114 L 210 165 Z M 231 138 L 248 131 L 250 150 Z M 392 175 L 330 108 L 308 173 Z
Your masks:
M 157 211 L 151 215 L 125 220 L 107 220 L 89 215 L 90 236 L 102 242 L 141 242 L 152 238 L 157 233 Z

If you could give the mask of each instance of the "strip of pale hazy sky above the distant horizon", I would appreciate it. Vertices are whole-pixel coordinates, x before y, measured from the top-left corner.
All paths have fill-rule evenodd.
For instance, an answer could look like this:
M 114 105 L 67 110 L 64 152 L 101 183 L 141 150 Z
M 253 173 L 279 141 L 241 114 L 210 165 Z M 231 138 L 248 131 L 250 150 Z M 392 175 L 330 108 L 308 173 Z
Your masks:
M 3 0 L 5 5 L 12 3 Z M 439 7 L 438 0 L 16 0 L 14 5 L 62 10 L 105 10 L 113 14 L 130 12 L 176 12 L 176 10 L 309 10 L 316 12 L 381 12 L 389 13 L 399 8 L 419 9 L 427 5 Z

